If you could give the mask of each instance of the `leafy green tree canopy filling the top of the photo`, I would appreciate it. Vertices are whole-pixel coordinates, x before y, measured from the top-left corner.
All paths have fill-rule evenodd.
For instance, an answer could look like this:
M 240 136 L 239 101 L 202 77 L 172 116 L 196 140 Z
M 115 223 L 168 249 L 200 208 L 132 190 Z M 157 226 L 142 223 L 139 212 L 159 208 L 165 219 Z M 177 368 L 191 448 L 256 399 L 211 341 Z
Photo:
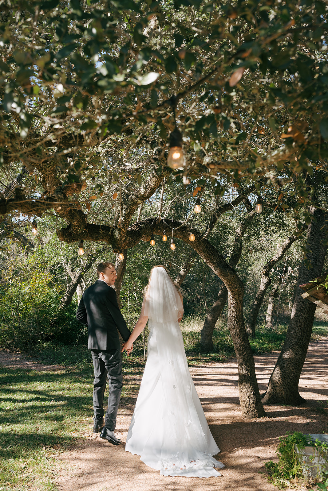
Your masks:
M 325 2 L 7 0 L 1 9 L 7 219 L 54 213 L 68 224 L 61 240 L 119 250 L 140 240 L 131 219 L 164 178 L 191 181 L 191 210 L 195 187 L 207 202 L 234 186 L 302 216 L 314 187 L 326 190 Z M 172 169 L 176 127 L 185 159 Z M 95 198 L 115 205 L 110 225 L 97 220 Z

